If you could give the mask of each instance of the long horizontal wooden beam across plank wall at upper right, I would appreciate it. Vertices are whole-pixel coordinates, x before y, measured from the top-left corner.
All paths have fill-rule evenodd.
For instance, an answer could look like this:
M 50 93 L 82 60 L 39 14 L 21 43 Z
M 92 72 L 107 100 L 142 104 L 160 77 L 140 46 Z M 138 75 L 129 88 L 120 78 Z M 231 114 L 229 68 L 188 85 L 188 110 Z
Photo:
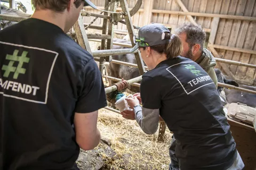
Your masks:
M 256 17 L 252 16 L 239 16 L 239 15 L 223 15 L 223 14 L 211 14 L 211 13 L 199 13 L 199 12 L 182 12 L 182 11 L 167 11 L 167 10 L 152 10 L 152 13 L 174 14 L 174 15 L 191 15 L 191 16 L 203 16 L 210 18 L 223 18 L 231 20 L 244 20 L 244 21 L 256 21 Z

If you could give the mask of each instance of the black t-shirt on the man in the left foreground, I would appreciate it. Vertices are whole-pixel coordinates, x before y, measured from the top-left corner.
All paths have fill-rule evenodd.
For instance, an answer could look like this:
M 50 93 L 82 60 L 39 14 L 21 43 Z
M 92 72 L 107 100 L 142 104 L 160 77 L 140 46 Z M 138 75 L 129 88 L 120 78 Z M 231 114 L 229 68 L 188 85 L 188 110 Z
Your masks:
M 106 105 L 92 55 L 57 25 L 27 19 L 0 31 L 0 169 L 71 169 L 74 113 Z

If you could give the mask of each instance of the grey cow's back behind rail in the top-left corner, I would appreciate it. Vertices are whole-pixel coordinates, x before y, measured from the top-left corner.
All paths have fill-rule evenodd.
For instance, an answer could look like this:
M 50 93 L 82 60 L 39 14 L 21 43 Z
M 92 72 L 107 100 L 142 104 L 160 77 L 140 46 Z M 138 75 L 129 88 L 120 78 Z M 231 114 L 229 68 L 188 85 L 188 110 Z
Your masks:
M 19 11 L 19 10 L 15 10 L 13 8 L 6 7 L 4 5 L 1 5 L 1 14 L 12 15 L 12 16 L 22 16 L 22 17 L 26 17 L 26 18 L 29 18 L 31 16 L 30 14 L 27 14 L 27 13 Z M 6 28 L 10 25 L 17 23 L 17 22 L 4 21 L 4 20 L 2 20 L 2 22 L 3 22 L 3 28 Z

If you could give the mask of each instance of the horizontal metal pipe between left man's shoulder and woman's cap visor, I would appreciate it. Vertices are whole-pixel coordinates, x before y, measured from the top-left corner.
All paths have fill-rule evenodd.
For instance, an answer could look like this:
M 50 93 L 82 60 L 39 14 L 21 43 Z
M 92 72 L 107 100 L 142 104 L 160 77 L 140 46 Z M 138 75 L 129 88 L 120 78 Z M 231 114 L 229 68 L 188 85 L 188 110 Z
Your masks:
M 106 49 L 106 50 L 95 50 L 92 52 L 93 57 L 105 57 L 109 55 L 122 55 L 130 54 L 131 48 L 126 49 Z M 138 49 L 133 53 L 138 53 Z

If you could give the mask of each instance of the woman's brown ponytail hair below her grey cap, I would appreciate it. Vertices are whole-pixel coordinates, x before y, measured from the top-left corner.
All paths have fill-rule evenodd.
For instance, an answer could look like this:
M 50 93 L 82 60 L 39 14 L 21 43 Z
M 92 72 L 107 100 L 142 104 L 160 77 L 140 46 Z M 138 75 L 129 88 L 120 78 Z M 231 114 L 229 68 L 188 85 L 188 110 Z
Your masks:
M 182 43 L 180 38 L 177 35 L 165 32 L 164 39 L 170 39 L 170 43 L 150 46 L 150 48 L 159 54 L 166 54 L 167 60 L 178 57 L 182 52 Z M 146 49 L 146 47 L 143 47 L 143 49 Z

